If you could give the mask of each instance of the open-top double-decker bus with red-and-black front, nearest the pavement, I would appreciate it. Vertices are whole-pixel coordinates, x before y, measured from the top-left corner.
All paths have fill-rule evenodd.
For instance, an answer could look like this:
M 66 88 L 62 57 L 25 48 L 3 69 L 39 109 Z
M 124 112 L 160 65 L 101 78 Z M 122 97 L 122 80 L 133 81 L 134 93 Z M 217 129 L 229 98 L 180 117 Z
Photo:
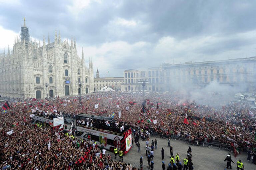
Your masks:
M 88 122 L 92 120 L 93 124 L 97 124 L 97 128 L 93 126 L 87 126 L 86 123 L 78 123 L 78 121 Z M 89 114 L 76 115 L 75 129 L 77 138 L 90 139 L 93 142 L 97 142 L 98 145 L 102 144 L 104 148 L 114 151 L 114 147 L 118 150 L 122 150 L 123 154 L 129 152 L 132 146 L 132 132 L 131 128 L 123 133 L 114 132 L 106 128 L 106 123 L 115 123 L 115 120 L 111 117 L 94 116 Z M 111 127 L 110 127 L 111 128 Z

